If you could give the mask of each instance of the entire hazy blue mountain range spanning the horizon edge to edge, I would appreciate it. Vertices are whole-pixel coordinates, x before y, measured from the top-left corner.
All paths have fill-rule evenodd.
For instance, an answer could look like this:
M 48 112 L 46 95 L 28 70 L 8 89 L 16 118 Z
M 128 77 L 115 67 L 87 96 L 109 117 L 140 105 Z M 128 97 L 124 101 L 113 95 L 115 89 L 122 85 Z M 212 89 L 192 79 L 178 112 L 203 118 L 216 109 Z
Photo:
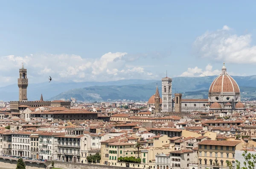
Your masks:
M 175 77 L 172 79 L 172 93 L 183 93 L 183 98 L 208 97 L 209 86 L 216 76 Z M 243 99 L 256 99 L 256 76 L 233 76 L 241 90 Z M 66 82 L 29 84 L 28 99 L 44 100 L 76 98 L 79 101 L 148 100 L 159 86 L 160 80 L 129 79 L 111 82 Z M 0 87 L 0 100 L 18 100 L 17 85 Z

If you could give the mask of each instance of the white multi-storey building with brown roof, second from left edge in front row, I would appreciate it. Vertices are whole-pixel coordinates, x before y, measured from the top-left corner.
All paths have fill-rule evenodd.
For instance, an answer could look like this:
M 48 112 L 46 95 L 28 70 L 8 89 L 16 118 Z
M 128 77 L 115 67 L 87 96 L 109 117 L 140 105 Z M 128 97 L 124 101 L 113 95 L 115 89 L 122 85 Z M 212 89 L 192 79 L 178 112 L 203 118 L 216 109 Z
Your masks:
M 31 132 L 12 132 L 12 155 L 30 157 Z

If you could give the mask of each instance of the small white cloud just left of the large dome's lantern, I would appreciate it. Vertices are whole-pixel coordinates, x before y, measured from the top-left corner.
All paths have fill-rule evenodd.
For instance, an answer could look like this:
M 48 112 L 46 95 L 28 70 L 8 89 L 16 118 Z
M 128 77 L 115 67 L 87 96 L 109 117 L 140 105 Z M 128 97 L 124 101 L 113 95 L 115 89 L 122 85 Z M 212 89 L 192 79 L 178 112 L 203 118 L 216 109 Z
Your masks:
M 180 76 L 182 77 L 203 77 L 203 76 L 215 76 L 219 75 L 221 70 L 212 70 L 212 65 L 208 64 L 205 70 L 198 68 L 188 68 L 187 71 L 183 72 Z

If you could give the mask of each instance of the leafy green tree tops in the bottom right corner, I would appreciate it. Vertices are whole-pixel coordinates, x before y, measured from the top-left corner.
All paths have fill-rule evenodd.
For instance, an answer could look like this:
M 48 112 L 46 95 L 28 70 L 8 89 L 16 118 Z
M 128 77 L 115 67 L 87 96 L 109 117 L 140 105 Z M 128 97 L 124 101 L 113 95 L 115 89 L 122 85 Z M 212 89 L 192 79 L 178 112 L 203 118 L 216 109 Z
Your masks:
M 256 155 L 247 153 L 247 150 L 245 150 L 242 156 L 245 160 L 244 167 L 241 167 L 241 163 L 236 160 L 236 169 L 254 169 L 254 167 L 256 166 Z M 230 169 L 233 169 L 233 164 L 230 161 L 227 160 L 226 163 Z

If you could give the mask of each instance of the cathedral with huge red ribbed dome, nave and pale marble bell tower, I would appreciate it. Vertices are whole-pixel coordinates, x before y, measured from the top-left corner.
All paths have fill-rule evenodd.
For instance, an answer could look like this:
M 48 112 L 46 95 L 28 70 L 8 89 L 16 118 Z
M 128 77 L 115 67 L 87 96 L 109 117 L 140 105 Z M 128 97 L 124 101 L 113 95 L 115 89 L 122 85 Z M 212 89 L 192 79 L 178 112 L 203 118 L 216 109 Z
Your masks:
M 209 87 L 208 99 L 182 99 L 181 93 L 172 96 L 172 79 L 162 78 L 162 112 L 215 112 L 230 113 L 244 111 L 240 89 L 236 81 L 227 73 L 225 64 L 222 71 Z M 171 106 L 170 106 L 171 105 Z

